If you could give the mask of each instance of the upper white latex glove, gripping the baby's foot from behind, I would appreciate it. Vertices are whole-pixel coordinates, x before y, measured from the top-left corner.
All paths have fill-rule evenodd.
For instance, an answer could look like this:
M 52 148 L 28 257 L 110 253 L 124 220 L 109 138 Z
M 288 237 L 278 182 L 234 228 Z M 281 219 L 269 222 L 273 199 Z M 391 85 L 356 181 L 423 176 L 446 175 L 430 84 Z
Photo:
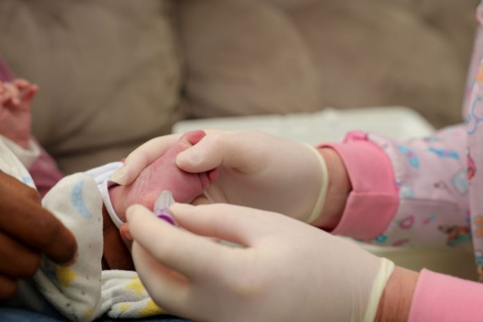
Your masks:
M 321 213 L 328 173 L 314 148 L 260 131 L 206 133 L 176 158 L 178 167 L 188 172 L 219 169 L 219 178 L 205 190 L 207 200 L 200 198 L 196 203 L 244 205 L 310 222 Z M 112 180 L 130 184 L 178 137 L 158 137 L 140 146 L 128 155 Z

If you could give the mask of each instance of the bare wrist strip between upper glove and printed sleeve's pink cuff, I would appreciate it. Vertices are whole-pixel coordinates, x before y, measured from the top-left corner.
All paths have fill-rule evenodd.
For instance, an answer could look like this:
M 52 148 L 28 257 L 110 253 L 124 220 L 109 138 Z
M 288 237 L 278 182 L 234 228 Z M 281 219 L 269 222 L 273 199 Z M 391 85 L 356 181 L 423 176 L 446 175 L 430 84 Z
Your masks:
M 334 149 L 327 147 L 319 149 L 319 153 L 321 153 L 329 173 L 325 200 L 330 202 L 325 202 L 321 214 L 312 222 L 312 225 L 324 230 L 333 230 L 344 213 L 348 194 L 352 187 L 346 167 L 339 154 Z

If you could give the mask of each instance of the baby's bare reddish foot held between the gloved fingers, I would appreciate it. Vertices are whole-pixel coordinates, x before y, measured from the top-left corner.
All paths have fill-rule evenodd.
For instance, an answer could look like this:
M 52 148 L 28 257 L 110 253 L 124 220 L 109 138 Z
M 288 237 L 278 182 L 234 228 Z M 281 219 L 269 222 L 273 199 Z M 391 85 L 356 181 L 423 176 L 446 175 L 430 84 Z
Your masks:
M 203 194 L 214 179 L 214 172 L 183 171 L 176 165 L 176 155 L 198 143 L 204 136 L 201 130 L 186 133 L 161 158 L 146 167 L 132 185 L 112 187 L 110 197 L 119 218 L 126 221 L 126 209 L 135 203 L 153 210 L 155 200 L 163 190 L 171 191 L 174 200 L 180 203 L 189 203 Z

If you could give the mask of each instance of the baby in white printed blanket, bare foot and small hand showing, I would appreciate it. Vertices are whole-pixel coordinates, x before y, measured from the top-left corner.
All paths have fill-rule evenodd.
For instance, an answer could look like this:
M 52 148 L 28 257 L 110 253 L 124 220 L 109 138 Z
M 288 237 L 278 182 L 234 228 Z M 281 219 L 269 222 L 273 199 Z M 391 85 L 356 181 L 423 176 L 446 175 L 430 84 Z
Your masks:
M 24 167 L 20 162 L 5 160 L 12 160 L 9 155 L 40 155 L 40 147 L 31 139 L 31 101 L 37 90 L 27 80 L 0 82 L 0 169 L 32 186 L 35 180 L 31 180 L 26 168 L 35 160 L 26 162 L 24 158 Z M 135 203 L 153 210 L 155 200 L 164 190 L 171 191 L 181 203 L 203 194 L 214 180 L 214 172 L 187 173 L 176 166 L 175 159 L 204 135 L 203 131 L 183 135 L 127 187 L 108 180 L 110 173 L 121 165 L 115 162 L 63 178 L 50 189 L 44 197 L 44 207 L 74 233 L 79 246 L 76 264 L 62 267 L 43 259 L 34 278 L 37 289 L 58 311 L 78 321 L 90 321 L 105 312 L 111 317 L 162 312 L 133 271 L 126 246 L 127 225 L 118 230 L 111 218 L 125 221 L 127 207 Z

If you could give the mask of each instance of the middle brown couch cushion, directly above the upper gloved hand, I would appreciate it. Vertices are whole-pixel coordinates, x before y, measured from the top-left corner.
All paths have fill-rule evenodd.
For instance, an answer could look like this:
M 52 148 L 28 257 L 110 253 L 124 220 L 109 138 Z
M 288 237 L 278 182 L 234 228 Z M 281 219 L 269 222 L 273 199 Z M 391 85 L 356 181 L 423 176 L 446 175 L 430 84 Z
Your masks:
M 259 1 L 178 1 L 192 117 L 313 111 L 318 76 L 296 28 Z

